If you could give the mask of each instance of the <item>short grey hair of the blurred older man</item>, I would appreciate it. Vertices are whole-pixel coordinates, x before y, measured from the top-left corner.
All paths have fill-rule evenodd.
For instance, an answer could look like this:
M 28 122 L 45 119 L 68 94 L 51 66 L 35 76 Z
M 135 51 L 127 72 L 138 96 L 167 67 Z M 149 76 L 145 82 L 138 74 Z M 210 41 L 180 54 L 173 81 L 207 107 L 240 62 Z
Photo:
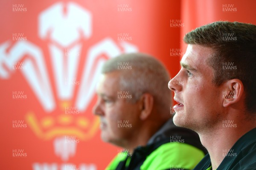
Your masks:
M 171 105 L 171 94 L 168 89 L 169 73 L 160 61 L 143 53 L 122 54 L 106 61 L 102 74 L 120 72 L 119 88 L 132 94 L 132 101 L 148 92 L 158 105 Z

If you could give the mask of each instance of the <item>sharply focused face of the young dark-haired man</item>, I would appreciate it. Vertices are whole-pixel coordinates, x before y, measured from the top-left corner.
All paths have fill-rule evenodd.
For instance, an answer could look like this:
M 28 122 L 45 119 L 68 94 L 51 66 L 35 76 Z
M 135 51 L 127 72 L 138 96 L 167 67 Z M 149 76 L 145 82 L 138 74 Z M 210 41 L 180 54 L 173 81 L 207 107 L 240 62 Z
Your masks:
M 174 123 L 195 131 L 211 128 L 222 120 L 222 91 L 212 83 L 213 69 L 206 63 L 212 49 L 189 44 L 181 59 L 180 72 L 169 81 L 175 92 Z

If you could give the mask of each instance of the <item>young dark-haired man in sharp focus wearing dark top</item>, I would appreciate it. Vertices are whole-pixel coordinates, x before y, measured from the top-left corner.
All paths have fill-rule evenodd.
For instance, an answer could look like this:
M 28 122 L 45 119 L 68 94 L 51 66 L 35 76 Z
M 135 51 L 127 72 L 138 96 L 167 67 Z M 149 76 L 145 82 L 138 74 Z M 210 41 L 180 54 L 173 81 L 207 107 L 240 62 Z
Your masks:
M 209 152 L 195 170 L 256 170 L 256 26 L 215 22 L 184 41 L 169 89 L 175 125 L 197 132 Z

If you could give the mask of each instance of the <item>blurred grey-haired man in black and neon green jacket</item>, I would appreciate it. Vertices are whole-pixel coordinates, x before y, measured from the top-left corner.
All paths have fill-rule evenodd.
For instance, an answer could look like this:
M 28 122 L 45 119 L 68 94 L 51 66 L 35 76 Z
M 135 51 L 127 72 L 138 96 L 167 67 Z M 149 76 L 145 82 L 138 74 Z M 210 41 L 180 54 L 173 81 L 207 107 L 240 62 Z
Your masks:
M 190 170 L 204 157 L 197 134 L 172 122 L 168 81 L 164 66 L 145 54 L 104 64 L 93 112 L 102 140 L 123 148 L 107 170 Z

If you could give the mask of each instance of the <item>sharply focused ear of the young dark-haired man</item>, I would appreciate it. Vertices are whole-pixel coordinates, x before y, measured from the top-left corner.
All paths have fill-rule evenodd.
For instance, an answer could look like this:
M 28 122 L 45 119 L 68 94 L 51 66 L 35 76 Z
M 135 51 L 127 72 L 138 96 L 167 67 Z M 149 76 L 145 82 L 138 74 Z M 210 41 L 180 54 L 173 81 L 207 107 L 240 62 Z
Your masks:
M 244 94 L 244 85 L 239 79 L 231 79 L 225 83 L 225 91 L 222 94 L 224 107 L 235 104 Z

